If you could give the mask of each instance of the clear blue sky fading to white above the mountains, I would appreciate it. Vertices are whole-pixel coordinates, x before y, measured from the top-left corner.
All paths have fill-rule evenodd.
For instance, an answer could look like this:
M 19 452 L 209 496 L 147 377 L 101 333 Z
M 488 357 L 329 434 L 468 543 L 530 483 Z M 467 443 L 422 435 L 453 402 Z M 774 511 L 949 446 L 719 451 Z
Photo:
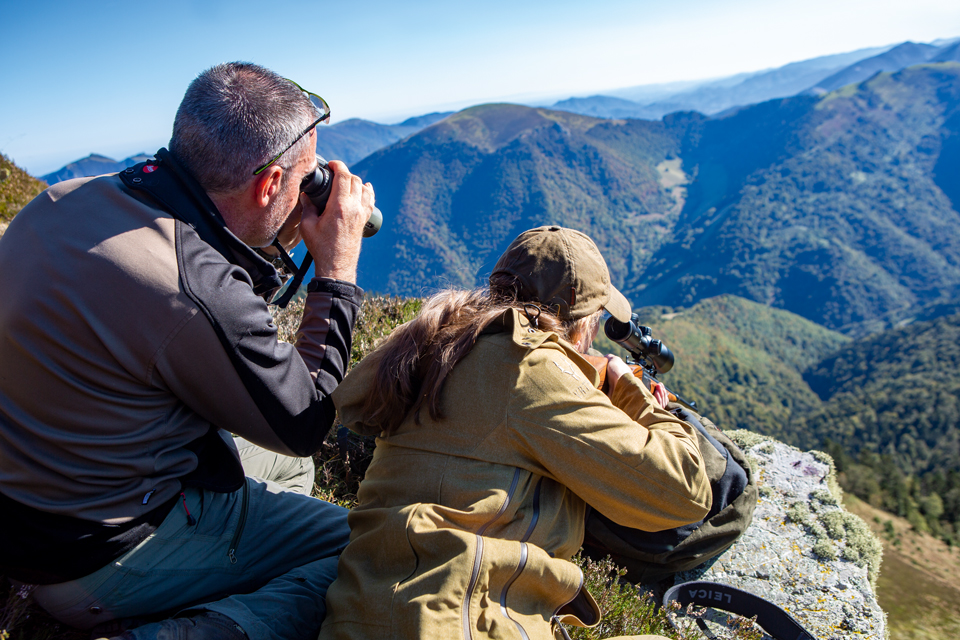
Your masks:
M 152 153 L 230 60 L 391 123 L 960 36 L 956 0 L 0 2 L 0 152 L 34 175 Z

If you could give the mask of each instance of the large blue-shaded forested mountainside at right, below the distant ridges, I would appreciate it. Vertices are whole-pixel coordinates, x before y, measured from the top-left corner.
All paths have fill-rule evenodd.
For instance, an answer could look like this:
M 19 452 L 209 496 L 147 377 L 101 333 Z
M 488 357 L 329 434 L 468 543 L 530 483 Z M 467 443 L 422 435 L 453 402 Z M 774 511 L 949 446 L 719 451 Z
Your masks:
M 958 109 L 960 64 L 944 63 L 688 125 L 681 157 L 696 180 L 626 293 L 734 293 L 854 334 L 955 295 Z

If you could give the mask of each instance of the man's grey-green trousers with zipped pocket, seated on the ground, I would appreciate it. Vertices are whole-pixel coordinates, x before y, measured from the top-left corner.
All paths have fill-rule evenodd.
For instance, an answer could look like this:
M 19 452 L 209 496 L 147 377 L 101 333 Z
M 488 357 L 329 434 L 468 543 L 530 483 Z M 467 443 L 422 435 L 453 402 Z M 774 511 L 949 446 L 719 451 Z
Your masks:
M 237 444 L 243 489 L 185 489 L 186 504 L 137 547 L 83 578 L 37 587 L 34 599 L 81 629 L 208 610 L 234 620 L 250 640 L 316 638 L 350 536 L 347 510 L 308 497 L 312 461 Z

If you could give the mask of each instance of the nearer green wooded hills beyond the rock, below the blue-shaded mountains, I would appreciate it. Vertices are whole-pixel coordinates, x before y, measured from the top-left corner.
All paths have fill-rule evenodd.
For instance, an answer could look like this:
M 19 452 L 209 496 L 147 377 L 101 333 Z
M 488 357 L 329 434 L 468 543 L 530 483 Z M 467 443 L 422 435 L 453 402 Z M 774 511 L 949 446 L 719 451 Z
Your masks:
M 853 341 L 734 296 L 639 314 L 676 354 L 662 381 L 722 428 L 823 449 L 845 490 L 960 544 L 956 302 Z

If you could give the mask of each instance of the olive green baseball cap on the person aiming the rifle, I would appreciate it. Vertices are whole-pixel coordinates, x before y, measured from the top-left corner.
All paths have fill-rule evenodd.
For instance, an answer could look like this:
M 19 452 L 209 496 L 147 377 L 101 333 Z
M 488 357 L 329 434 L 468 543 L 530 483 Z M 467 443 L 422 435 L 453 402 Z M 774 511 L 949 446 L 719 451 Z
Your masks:
M 601 308 L 620 322 L 630 320 L 630 303 L 610 283 L 600 249 L 573 229 L 550 226 L 524 231 L 503 252 L 493 274 L 520 282 L 520 298 L 559 307 L 562 320 L 585 318 Z

